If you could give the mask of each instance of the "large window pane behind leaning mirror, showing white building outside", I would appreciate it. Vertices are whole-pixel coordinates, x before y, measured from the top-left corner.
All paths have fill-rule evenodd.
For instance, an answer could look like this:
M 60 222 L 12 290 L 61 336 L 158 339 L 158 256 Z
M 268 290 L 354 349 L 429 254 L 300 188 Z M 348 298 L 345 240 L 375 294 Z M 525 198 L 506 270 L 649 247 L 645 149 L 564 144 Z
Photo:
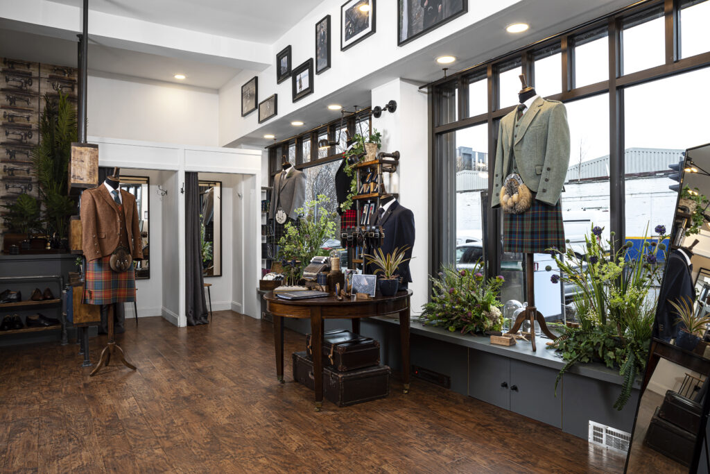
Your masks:
M 668 165 L 681 153 L 708 142 L 707 121 L 698 107 L 710 68 L 629 87 L 626 112 L 626 238 L 638 239 L 665 225 L 670 232 L 677 193 L 668 189 Z M 659 103 L 652 100 L 662 97 Z

